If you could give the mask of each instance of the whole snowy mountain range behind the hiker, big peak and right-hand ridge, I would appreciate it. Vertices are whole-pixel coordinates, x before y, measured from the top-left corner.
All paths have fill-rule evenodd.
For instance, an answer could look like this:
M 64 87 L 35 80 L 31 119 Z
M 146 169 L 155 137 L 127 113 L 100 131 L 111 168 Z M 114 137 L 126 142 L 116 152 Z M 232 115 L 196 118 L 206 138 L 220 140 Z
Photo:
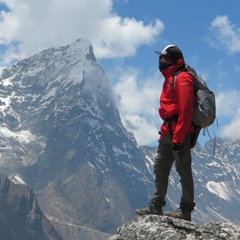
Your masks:
M 106 239 L 148 204 L 156 147 L 137 146 L 123 126 L 88 40 L 4 69 L 0 110 L 0 172 L 33 189 L 63 239 Z M 193 221 L 239 223 L 240 141 L 216 142 L 214 158 L 211 141 L 193 150 Z M 179 198 L 173 170 L 167 208 Z

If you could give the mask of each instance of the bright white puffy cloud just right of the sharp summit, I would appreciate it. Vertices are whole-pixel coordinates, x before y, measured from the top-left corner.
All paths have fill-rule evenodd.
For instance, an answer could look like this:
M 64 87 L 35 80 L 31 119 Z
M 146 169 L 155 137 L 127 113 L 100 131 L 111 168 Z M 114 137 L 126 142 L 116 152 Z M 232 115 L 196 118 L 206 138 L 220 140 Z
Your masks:
M 102 21 L 99 35 L 93 40 L 95 53 L 104 58 L 133 56 L 140 45 L 153 43 L 162 29 L 159 20 L 145 26 L 133 18 L 113 16 Z

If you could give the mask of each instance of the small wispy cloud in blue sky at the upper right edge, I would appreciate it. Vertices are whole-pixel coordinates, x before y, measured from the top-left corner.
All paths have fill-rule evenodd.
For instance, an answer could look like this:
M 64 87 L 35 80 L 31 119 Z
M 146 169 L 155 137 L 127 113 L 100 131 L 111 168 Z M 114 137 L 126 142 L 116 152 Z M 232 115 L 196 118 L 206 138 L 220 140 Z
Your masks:
M 211 23 L 209 43 L 227 50 L 229 54 L 240 52 L 240 28 L 232 24 L 228 16 L 217 16 Z

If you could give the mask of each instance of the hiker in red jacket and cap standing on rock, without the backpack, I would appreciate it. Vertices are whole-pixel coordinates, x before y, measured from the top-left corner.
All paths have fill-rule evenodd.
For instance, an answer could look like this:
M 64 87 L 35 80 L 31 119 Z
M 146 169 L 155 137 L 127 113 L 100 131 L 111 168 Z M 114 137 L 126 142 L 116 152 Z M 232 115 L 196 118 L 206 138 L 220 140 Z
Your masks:
M 154 164 L 156 192 L 149 207 L 136 209 L 139 215 L 162 215 L 168 178 L 175 161 L 180 176 L 182 197 L 180 206 L 165 215 L 191 221 L 194 210 L 194 185 L 192 176 L 191 148 L 194 147 L 199 131 L 192 123 L 194 108 L 194 80 L 186 71 L 181 71 L 174 83 L 176 72 L 185 66 L 182 51 L 175 45 L 167 45 L 159 54 L 159 70 L 165 78 L 160 96 L 159 114 L 163 119 L 159 146 Z

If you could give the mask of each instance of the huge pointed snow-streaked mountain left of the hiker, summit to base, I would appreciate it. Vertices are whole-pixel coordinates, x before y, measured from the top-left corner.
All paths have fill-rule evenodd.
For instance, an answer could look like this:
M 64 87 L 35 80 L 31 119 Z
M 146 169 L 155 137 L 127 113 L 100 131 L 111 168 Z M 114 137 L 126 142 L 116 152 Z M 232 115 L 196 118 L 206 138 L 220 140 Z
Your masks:
M 18 171 L 55 223 L 111 232 L 146 204 L 152 176 L 89 41 L 17 62 L 0 89 L 1 169 Z

